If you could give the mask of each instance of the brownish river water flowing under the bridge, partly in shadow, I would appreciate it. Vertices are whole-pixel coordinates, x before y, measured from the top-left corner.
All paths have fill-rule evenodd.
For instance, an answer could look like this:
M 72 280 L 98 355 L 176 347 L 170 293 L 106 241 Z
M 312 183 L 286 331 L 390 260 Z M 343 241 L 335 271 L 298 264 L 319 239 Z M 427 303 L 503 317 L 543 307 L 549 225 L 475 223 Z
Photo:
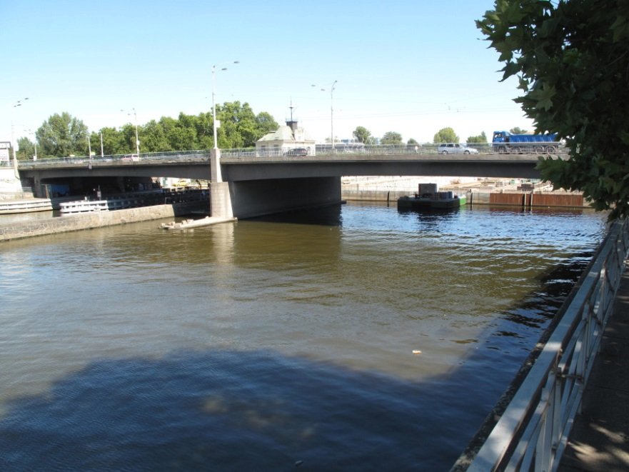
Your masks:
M 0 244 L 0 470 L 447 471 L 605 216 L 158 224 Z

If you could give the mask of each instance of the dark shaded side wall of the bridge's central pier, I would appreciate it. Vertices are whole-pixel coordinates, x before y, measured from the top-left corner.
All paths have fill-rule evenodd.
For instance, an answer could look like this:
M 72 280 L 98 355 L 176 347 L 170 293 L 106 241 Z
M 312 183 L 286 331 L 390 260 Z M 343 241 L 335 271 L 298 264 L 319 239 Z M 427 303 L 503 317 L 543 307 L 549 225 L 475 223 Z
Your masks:
M 228 187 L 233 216 L 240 219 L 341 203 L 340 177 L 233 181 Z

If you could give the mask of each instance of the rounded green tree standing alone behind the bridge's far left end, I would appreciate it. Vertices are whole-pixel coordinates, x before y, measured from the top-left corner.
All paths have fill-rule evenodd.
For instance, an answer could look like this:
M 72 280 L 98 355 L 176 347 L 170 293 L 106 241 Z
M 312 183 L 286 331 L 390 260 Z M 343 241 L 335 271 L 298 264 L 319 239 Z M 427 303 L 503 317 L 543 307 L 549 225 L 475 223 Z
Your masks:
M 44 121 L 36 131 L 42 156 L 63 157 L 87 154 L 87 126 L 64 111 Z

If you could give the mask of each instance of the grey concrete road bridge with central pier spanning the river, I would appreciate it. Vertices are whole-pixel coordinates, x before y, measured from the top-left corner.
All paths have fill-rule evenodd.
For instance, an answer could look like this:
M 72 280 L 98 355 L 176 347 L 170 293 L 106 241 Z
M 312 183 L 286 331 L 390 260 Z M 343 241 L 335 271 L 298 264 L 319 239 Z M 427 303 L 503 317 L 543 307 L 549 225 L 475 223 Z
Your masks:
M 27 186 L 61 180 L 178 177 L 211 181 L 213 216 L 248 218 L 341 201 L 342 176 L 466 176 L 538 179 L 538 154 L 438 154 L 436 148 L 369 146 L 291 156 L 251 149 L 20 161 Z M 560 154 L 559 154 L 560 155 Z M 220 167 L 215 164 L 220 161 Z

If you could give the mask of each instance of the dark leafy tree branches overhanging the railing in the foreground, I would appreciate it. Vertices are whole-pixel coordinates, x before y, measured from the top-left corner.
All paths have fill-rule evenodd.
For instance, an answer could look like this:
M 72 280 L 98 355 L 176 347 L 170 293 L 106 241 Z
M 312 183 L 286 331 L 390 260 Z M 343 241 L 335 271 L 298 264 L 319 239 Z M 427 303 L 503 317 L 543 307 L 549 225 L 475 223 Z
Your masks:
M 628 2 L 497 0 L 476 24 L 535 132 L 565 139 L 568 159 L 540 158 L 543 179 L 629 216 Z

